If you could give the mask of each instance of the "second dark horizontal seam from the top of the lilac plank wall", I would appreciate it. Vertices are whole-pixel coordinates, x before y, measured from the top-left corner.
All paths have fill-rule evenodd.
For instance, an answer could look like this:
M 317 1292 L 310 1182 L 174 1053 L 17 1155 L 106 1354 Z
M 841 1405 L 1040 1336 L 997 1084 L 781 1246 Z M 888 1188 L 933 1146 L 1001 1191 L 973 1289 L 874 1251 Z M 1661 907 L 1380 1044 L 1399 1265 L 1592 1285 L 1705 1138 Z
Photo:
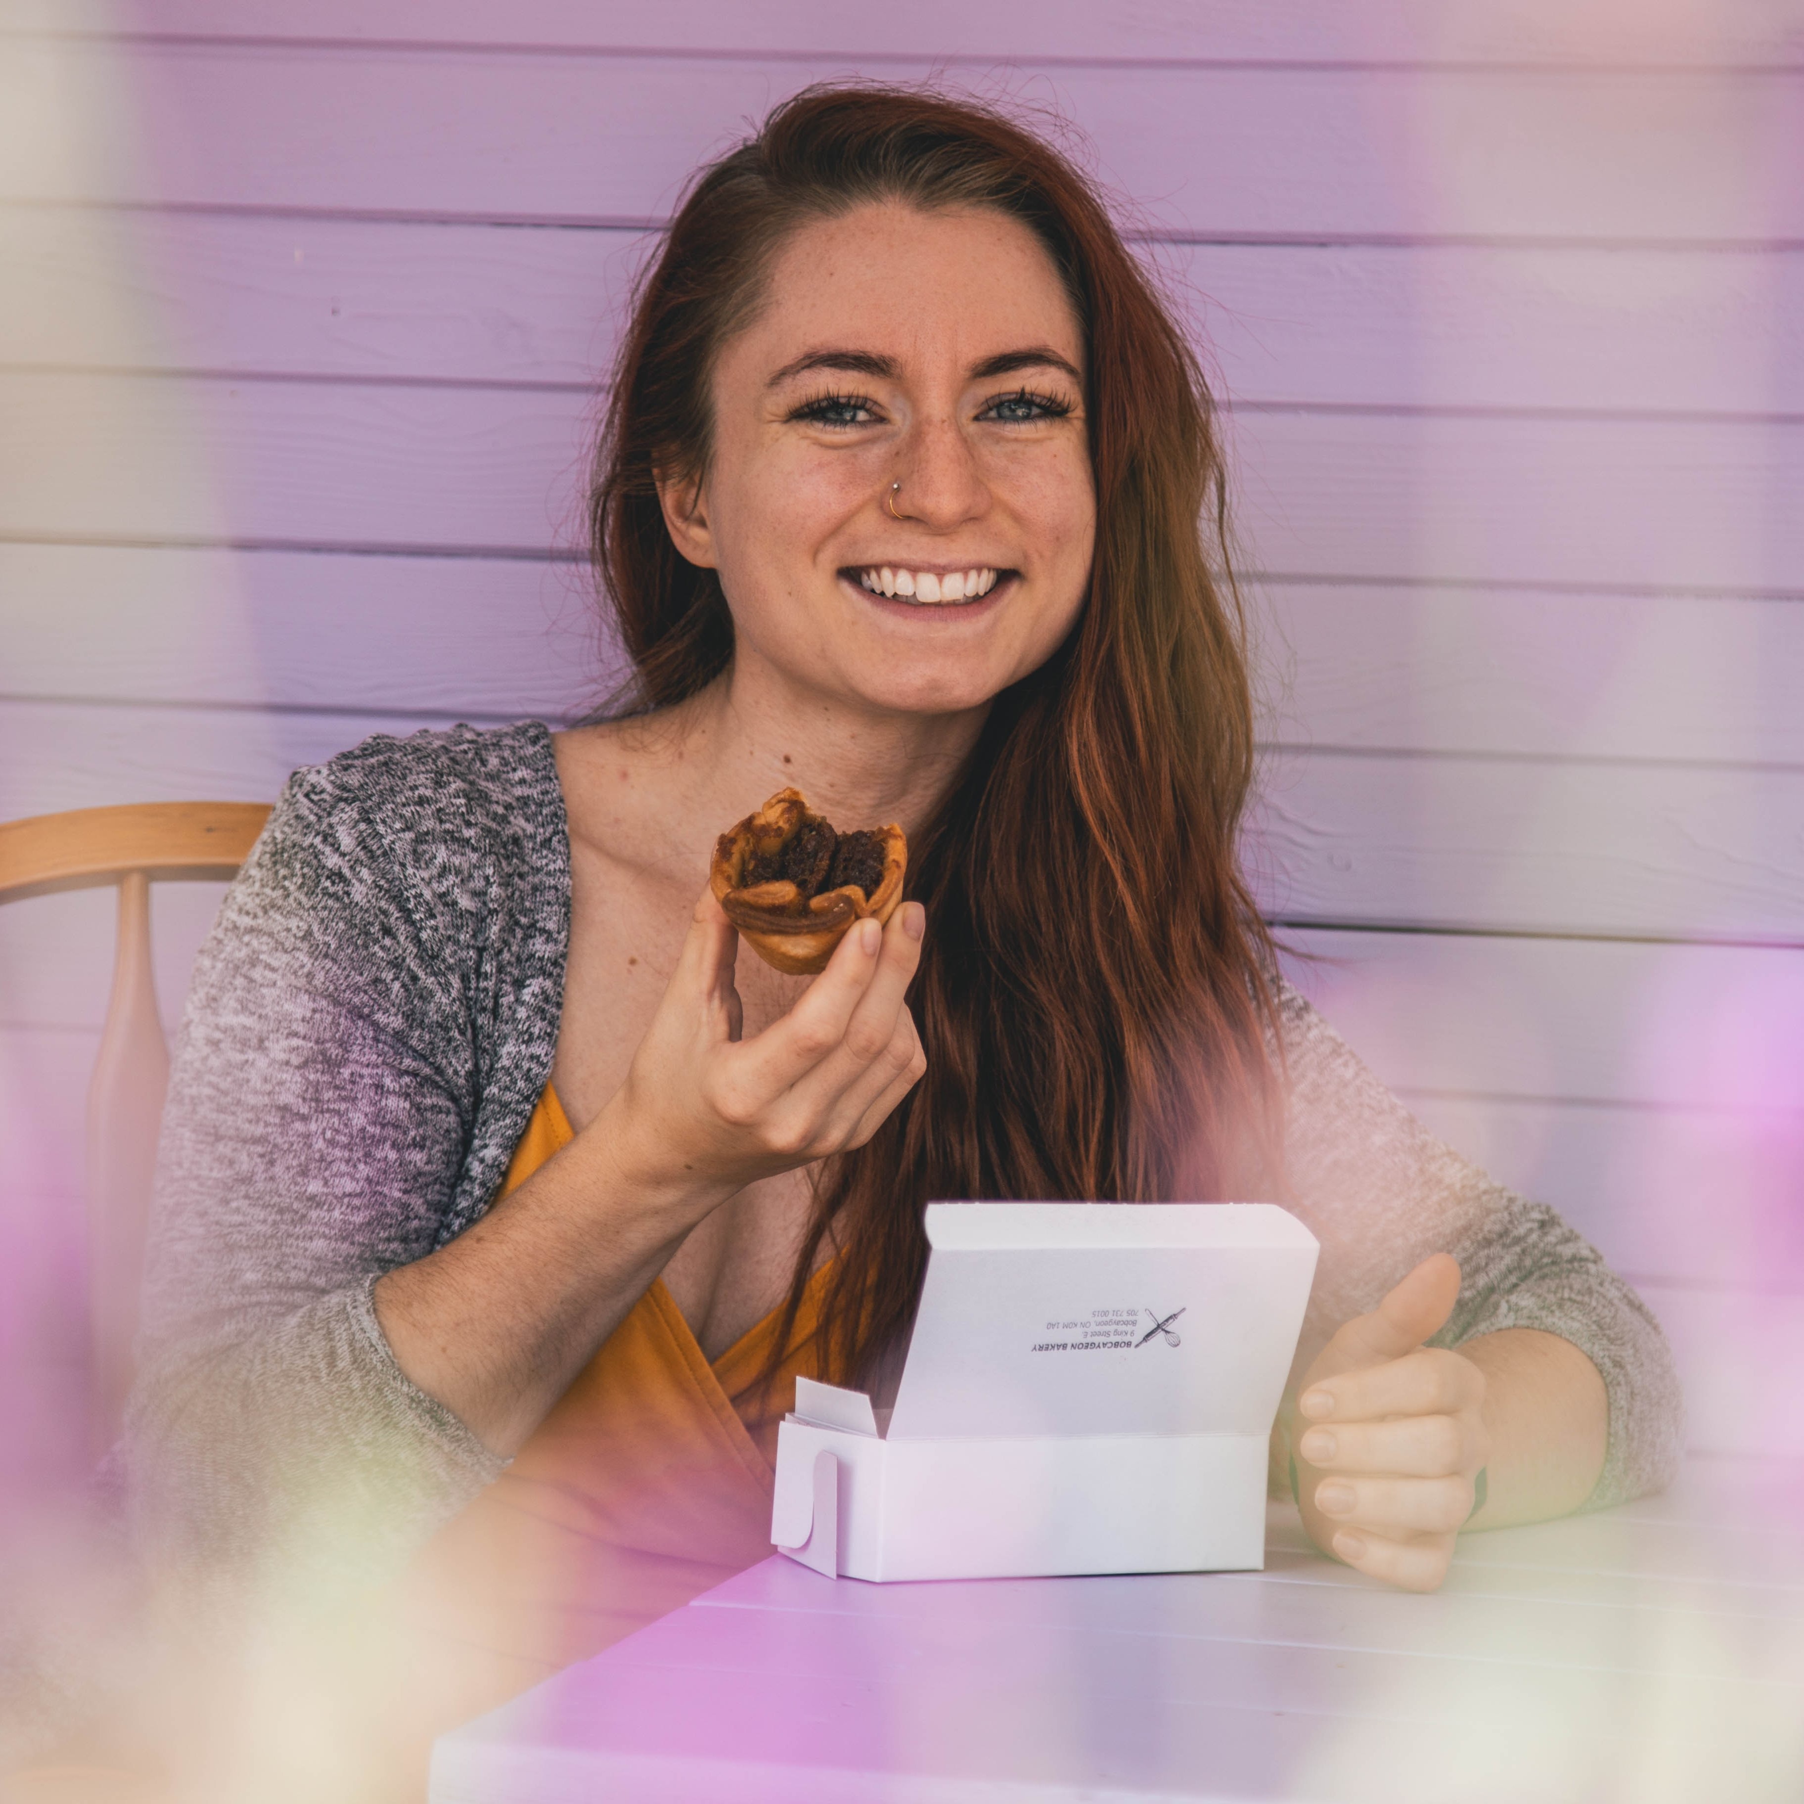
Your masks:
M 152 213 L 220 218 L 308 220 L 341 226 L 492 226 L 503 231 L 660 233 L 667 215 L 494 213 L 422 207 L 298 206 L 249 200 L 119 200 L 70 195 L 0 193 L 0 207 L 34 211 Z M 1598 238 L 1575 233 L 1396 233 L 1396 231 L 1236 231 L 1207 226 L 1122 226 L 1129 244 L 1279 251 L 1698 251 L 1705 254 L 1804 253 L 1804 238 Z

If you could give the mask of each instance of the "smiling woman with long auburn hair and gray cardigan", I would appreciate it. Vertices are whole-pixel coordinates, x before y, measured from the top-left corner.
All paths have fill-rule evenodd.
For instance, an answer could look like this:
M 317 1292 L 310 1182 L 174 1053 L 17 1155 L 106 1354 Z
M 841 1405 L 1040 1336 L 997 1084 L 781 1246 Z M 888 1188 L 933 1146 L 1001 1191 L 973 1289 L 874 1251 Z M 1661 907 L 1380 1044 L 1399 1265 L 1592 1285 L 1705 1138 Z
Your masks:
M 934 1196 L 1288 1201 L 1322 1257 L 1275 1472 L 1380 1578 L 1665 1479 L 1642 1304 L 1275 976 L 1207 393 L 1054 150 L 779 106 L 673 222 L 597 471 L 630 705 L 299 772 L 202 956 L 153 1548 L 411 1557 L 489 1701 L 769 1551 L 794 1376 L 882 1382 Z M 787 785 L 911 848 L 812 981 L 696 900 Z

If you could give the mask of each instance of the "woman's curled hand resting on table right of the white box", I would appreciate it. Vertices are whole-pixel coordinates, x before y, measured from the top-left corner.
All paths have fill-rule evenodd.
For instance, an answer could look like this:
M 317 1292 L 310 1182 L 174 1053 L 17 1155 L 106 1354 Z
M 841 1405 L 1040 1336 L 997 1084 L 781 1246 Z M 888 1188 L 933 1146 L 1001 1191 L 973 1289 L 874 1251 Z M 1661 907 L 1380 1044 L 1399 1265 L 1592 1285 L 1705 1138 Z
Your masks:
M 1290 1423 L 1310 1537 L 1405 1591 L 1434 1591 L 1447 1577 L 1490 1456 L 1485 1373 L 1422 1344 L 1458 1295 L 1458 1261 L 1423 1259 L 1322 1348 Z

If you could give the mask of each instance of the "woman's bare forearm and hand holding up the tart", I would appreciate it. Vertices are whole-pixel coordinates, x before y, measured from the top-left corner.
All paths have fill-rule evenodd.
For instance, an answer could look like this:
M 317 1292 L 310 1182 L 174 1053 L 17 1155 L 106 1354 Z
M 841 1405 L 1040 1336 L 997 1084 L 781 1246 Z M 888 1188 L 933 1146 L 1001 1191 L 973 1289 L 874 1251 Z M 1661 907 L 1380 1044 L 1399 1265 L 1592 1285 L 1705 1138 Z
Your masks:
M 862 1146 L 907 1095 L 927 1068 L 902 999 L 924 924 L 918 902 L 884 929 L 859 922 L 788 1014 L 741 1039 L 740 936 L 704 897 L 606 1108 L 456 1239 L 377 1283 L 400 1369 L 514 1454 L 696 1221 L 758 1178 Z

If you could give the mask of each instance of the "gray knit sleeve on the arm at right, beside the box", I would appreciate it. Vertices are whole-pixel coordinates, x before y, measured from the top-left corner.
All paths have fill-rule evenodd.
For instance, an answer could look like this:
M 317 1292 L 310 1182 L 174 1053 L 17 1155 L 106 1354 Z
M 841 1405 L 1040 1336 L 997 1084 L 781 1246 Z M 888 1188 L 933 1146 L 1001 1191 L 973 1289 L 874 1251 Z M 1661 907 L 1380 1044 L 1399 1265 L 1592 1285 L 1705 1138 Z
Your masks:
M 1279 1007 L 1292 1207 L 1322 1243 L 1297 1371 L 1414 1265 L 1450 1252 L 1459 1301 L 1432 1344 L 1503 1328 L 1569 1340 L 1609 1394 L 1604 1470 L 1584 1508 L 1663 1486 L 1680 1459 L 1683 1407 L 1647 1304 L 1559 1214 L 1436 1140 L 1288 985 Z

